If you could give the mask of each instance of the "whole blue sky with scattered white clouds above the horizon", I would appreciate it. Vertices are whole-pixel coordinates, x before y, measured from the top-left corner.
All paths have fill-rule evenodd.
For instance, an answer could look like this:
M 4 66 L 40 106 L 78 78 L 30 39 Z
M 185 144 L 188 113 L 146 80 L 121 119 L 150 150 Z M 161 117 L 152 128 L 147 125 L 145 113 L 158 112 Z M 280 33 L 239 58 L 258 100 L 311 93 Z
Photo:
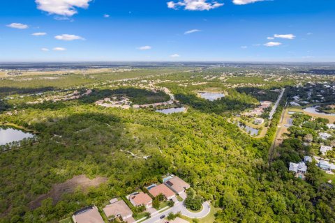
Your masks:
M 334 36 L 333 0 L 10 0 L 0 7 L 0 61 L 335 61 Z

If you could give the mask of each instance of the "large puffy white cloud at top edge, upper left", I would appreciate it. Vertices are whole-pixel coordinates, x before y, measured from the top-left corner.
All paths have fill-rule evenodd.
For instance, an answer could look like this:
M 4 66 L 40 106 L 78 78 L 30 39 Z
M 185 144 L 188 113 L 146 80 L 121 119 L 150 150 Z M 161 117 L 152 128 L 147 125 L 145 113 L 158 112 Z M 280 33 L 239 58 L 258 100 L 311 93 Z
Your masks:
M 88 8 L 91 0 L 35 0 L 37 8 L 50 14 L 73 16 L 77 8 Z

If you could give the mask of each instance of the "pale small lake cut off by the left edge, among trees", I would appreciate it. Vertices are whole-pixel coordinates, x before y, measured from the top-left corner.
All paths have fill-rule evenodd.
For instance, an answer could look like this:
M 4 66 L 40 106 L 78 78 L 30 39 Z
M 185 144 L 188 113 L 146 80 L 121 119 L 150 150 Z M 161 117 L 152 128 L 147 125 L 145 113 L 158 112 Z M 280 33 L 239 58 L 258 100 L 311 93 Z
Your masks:
M 7 126 L 0 126 L 0 146 L 9 144 L 13 141 L 21 141 L 22 139 L 28 139 L 34 137 L 34 134 L 29 132 L 23 132 L 15 128 Z

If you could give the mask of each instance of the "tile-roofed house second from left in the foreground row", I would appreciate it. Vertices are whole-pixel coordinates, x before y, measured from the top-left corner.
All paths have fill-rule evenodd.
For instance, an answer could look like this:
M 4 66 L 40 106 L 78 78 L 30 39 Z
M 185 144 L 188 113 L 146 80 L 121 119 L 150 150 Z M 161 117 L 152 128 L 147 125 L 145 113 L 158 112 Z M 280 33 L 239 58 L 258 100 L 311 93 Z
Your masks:
M 126 220 L 133 216 L 131 208 L 129 208 L 126 202 L 122 200 L 108 204 L 105 208 L 103 208 L 103 212 L 107 216 L 108 220 L 114 220 L 119 217 L 122 221 L 126 222 Z

